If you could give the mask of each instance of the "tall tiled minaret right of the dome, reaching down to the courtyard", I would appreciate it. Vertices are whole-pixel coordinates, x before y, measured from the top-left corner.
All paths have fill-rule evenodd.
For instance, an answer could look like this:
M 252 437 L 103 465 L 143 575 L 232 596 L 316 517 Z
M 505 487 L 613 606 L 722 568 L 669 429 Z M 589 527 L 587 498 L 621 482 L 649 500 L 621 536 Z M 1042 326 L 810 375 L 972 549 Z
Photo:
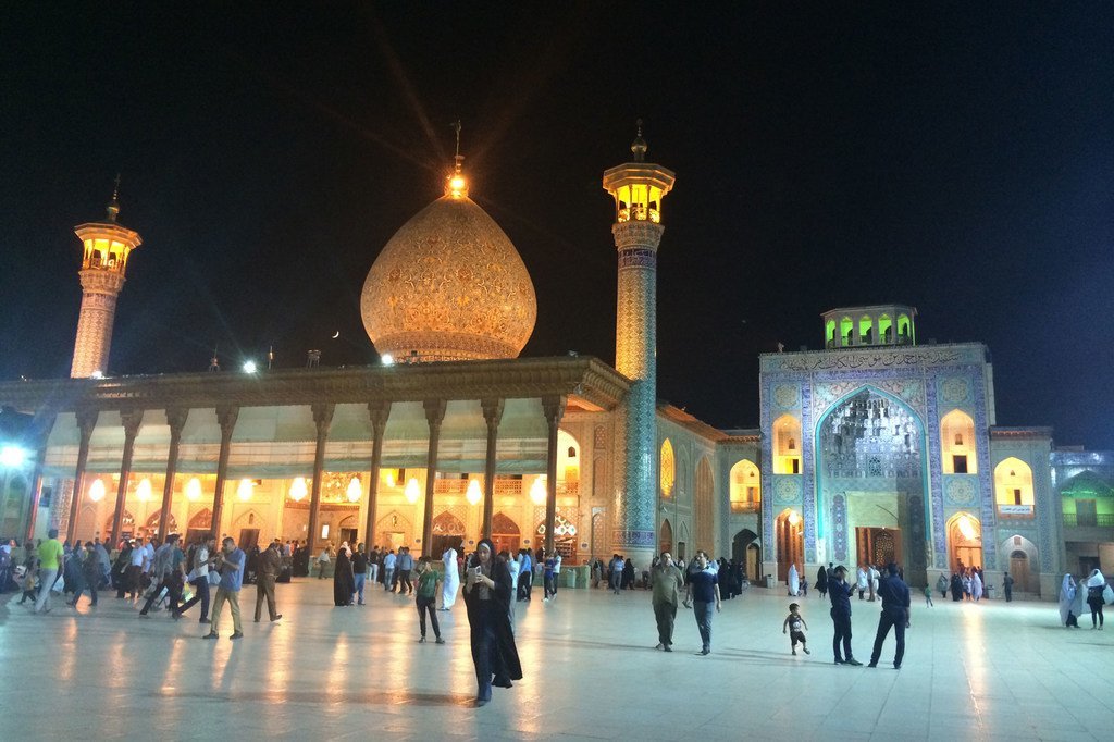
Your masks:
M 616 416 L 617 446 L 613 548 L 648 565 L 655 550 L 657 488 L 657 245 L 662 241 L 662 198 L 674 174 L 646 163 L 646 141 L 631 145 L 632 162 L 604 173 L 604 189 L 615 198 L 612 234 L 618 250 L 615 369 L 633 383 Z M 711 548 L 712 545 L 696 545 Z

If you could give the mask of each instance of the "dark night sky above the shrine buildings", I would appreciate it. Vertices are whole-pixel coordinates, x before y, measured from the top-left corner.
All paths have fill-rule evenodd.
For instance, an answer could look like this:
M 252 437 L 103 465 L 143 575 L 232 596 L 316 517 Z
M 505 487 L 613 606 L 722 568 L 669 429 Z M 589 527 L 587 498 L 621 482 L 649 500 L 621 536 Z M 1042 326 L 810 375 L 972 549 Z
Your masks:
M 364 276 L 458 117 L 537 290 L 524 354 L 612 362 L 600 176 L 642 117 L 677 174 L 663 399 L 756 427 L 759 353 L 901 302 L 989 345 L 998 424 L 1114 448 L 1114 3 L 304 4 L 4 4 L 0 379 L 68 374 L 72 227 L 117 172 L 111 373 L 375 362 Z

